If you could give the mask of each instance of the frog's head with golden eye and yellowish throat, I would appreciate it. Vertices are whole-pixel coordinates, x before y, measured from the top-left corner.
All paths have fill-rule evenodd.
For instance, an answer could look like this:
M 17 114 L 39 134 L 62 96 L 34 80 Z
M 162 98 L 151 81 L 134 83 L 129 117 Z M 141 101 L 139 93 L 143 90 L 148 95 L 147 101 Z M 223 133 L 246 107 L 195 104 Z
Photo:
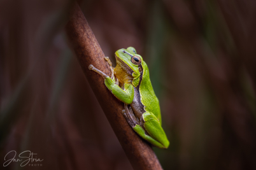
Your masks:
M 135 48 L 128 47 L 115 52 L 117 66 L 115 67 L 115 75 L 121 83 L 132 83 L 134 87 L 139 84 L 139 76 L 143 72 L 143 59 L 138 55 Z

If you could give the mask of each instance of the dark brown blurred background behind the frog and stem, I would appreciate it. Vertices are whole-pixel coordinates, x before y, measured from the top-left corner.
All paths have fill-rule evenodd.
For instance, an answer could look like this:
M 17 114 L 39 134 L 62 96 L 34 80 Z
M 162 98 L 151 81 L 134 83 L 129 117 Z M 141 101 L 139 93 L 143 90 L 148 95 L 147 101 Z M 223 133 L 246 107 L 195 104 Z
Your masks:
M 0 169 L 132 169 L 69 48 L 71 3 L 0 1 Z M 114 66 L 128 46 L 148 64 L 164 169 L 256 169 L 256 1 L 79 3 Z M 3 167 L 11 150 L 43 161 Z

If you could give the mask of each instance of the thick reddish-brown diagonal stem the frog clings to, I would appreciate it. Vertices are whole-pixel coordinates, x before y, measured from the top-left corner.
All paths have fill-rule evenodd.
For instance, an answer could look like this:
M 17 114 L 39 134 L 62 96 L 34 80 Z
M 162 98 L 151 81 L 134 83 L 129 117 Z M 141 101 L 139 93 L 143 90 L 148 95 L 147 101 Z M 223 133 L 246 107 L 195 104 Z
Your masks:
M 90 87 L 92 87 L 132 167 L 134 169 L 162 169 L 152 148 L 127 124 L 121 113 L 124 104 L 118 101 L 105 87 L 104 80 L 99 74 L 88 69 L 89 65 L 92 64 L 110 76 L 110 67 L 104 60 L 101 46 L 99 46 L 77 3 L 71 10 L 69 22 L 66 25 L 66 33 L 83 73 L 87 77 Z

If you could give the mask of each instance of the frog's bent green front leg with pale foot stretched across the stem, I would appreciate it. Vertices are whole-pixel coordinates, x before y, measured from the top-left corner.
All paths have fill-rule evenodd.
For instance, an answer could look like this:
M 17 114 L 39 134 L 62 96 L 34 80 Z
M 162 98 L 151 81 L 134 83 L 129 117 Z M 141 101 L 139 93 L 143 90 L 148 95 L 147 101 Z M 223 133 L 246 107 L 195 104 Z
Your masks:
M 90 64 L 89 69 L 92 71 L 95 71 L 96 73 L 100 74 L 104 78 L 104 83 L 106 87 L 112 92 L 112 94 L 117 97 L 120 101 L 131 104 L 134 97 L 134 89 L 131 84 L 124 84 L 124 89 L 121 89 L 116 83 L 115 83 L 115 77 L 111 79 L 108 75 L 100 71 L 99 69 L 96 69 L 96 67 L 92 66 Z

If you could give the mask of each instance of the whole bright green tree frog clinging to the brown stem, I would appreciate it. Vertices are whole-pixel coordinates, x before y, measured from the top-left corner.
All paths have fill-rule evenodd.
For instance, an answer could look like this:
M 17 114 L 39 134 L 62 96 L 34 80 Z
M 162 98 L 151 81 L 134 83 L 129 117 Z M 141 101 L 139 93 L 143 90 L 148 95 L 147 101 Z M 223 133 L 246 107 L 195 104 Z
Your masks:
M 104 78 L 106 87 L 124 103 L 122 114 L 132 129 L 143 139 L 158 148 L 168 148 L 169 141 L 162 129 L 160 106 L 150 81 L 148 66 L 135 48 L 120 49 L 115 52 L 117 66 L 110 64 L 111 78 L 96 67 L 89 69 Z

